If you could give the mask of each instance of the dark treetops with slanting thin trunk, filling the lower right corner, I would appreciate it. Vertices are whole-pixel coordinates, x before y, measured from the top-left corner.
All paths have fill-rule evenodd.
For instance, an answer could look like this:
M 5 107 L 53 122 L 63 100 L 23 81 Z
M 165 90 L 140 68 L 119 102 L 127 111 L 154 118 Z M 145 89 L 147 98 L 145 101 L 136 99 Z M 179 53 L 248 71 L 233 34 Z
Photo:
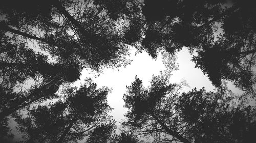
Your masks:
M 136 77 L 123 96 L 128 108 L 123 125 L 137 135 L 153 136 L 156 142 L 255 140 L 255 107 L 232 104 L 234 95 L 224 88 L 180 94 L 181 86 L 161 75 L 153 77 L 146 89 Z

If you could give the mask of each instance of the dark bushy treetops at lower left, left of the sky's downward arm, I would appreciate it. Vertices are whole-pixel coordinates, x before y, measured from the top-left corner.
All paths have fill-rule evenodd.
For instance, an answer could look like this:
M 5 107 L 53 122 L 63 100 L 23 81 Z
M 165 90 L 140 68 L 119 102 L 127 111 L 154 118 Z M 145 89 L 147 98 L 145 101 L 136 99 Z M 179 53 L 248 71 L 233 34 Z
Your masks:
M 108 116 L 112 109 L 106 103 L 108 92 L 107 88 L 96 89 L 96 83 L 89 80 L 79 90 L 66 89 L 64 101 L 31 107 L 25 118 L 20 116 L 16 119 L 19 130 L 24 134 L 24 142 L 90 140 L 95 137 L 92 132 L 102 128 L 111 133 L 115 121 Z

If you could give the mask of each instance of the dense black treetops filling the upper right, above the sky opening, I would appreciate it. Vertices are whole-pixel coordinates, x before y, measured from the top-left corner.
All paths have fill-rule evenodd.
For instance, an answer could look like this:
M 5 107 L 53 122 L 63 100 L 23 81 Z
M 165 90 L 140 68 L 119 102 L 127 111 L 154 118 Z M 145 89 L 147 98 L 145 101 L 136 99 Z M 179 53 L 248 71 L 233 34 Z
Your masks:
M 137 27 L 128 33 L 153 58 L 159 49 L 174 55 L 185 46 L 196 53 L 193 58 L 196 67 L 216 87 L 223 80 L 230 80 L 240 89 L 252 91 L 256 32 L 252 1 L 144 0 L 102 5 L 112 15 L 125 15 L 129 24 Z

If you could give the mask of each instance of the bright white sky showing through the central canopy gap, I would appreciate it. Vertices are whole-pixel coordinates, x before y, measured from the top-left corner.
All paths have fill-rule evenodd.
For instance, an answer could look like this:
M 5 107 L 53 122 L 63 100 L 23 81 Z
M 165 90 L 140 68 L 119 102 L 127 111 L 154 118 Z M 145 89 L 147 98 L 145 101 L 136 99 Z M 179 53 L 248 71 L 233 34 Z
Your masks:
M 183 48 L 178 52 L 177 56 L 179 70 L 172 73 L 173 75 L 170 77 L 171 83 L 180 83 L 182 80 L 186 80 L 189 87 L 184 87 L 184 92 L 195 87 L 197 89 L 205 87 L 207 91 L 215 89 L 207 76 L 200 69 L 195 68 L 195 63 L 190 61 L 191 55 L 187 49 Z M 123 115 L 126 112 L 122 99 L 123 94 L 126 92 L 126 85 L 131 85 L 137 75 L 142 80 L 144 87 L 147 87 L 150 84 L 153 74 L 158 75 L 160 71 L 165 70 L 161 58 L 158 57 L 157 60 L 153 60 L 146 52 L 132 55 L 131 59 L 133 59 L 131 65 L 125 68 L 122 67 L 119 71 L 117 69 L 106 69 L 99 76 L 95 77 L 93 74 L 84 70 L 81 75 L 81 81 L 86 77 L 91 77 L 97 83 L 98 88 L 103 86 L 112 88 L 112 92 L 108 95 L 108 102 L 114 108 L 111 115 L 113 115 L 117 122 L 124 119 Z M 234 89 L 233 85 L 228 85 L 231 89 Z

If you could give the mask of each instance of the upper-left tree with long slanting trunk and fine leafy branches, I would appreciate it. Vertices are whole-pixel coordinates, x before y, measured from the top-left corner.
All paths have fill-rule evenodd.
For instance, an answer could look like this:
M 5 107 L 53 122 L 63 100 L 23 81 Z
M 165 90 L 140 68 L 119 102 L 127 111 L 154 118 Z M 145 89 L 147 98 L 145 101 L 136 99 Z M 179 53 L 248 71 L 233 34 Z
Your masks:
M 58 60 L 81 60 L 83 66 L 98 69 L 115 66 L 122 61 L 120 55 L 126 54 L 115 21 L 90 1 L 10 1 L 1 9 L 6 17 L 1 21 L 4 32 L 37 40 L 42 50 Z

